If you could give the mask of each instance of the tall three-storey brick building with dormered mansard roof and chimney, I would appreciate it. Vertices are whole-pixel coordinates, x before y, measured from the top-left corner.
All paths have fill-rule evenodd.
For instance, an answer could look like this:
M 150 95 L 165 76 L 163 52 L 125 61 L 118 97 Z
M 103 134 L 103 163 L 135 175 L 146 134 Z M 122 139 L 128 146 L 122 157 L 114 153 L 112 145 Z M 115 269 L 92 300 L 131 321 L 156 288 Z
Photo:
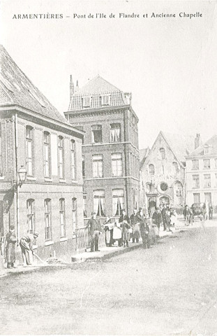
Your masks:
M 84 218 L 93 209 L 98 218 L 128 214 L 140 202 L 138 118 L 131 95 L 100 76 L 79 89 L 70 79 L 66 118 L 85 131 L 82 144 Z

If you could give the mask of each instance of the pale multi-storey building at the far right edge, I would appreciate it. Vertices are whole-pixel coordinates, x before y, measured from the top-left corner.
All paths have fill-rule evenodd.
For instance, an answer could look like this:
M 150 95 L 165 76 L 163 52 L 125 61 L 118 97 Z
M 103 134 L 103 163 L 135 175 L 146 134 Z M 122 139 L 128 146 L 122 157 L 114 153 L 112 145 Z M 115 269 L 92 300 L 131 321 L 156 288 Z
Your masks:
M 217 206 L 217 135 L 202 144 L 197 134 L 195 151 L 186 156 L 186 203 Z

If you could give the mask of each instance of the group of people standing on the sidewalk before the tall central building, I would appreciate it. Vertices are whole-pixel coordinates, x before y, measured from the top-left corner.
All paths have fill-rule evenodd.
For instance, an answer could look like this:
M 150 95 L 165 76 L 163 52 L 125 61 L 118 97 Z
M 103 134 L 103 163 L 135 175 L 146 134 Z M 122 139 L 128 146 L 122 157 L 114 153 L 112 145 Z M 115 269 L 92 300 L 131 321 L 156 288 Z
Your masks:
M 92 212 L 91 219 L 89 219 L 86 228 L 90 229 L 91 252 L 94 251 L 94 248 L 95 251 L 99 251 L 98 239 L 103 228 L 105 230 L 105 243 L 107 246 L 111 247 L 117 241 L 119 247 L 128 247 L 130 239 L 132 239 L 133 243 L 135 241 L 138 242 L 141 236 L 144 248 L 150 247 L 149 216 L 143 214 L 142 208 L 139 211 L 135 209 L 130 217 L 126 214 L 126 210 L 122 209 L 119 220 L 112 221 L 112 218 L 107 216 L 103 226 L 96 219 L 96 212 Z

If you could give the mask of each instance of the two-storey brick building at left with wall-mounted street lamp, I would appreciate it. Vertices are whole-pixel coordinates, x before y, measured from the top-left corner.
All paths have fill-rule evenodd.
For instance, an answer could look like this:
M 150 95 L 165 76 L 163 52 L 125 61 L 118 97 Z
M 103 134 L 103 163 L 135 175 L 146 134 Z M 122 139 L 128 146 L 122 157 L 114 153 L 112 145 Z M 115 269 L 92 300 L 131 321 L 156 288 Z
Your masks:
M 15 225 L 18 239 L 36 230 L 37 253 L 63 255 L 75 249 L 75 229 L 84 224 L 84 132 L 61 116 L 3 46 L 0 51 L 1 235 L 9 225 Z M 22 166 L 27 179 L 16 188 Z

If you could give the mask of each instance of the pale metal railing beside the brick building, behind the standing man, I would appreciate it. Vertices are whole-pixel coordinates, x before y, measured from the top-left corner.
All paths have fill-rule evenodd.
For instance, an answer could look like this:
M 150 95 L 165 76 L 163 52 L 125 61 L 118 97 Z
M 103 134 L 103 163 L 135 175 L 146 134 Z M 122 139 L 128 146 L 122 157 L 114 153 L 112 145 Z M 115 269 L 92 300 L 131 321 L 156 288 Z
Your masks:
M 87 251 L 88 248 L 91 248 L 91 235 L 90 228 L 77 228 L 75 230 L 75 251 Z M 105 246 L 105 232 L 101 232 L 98 239 L 98 246 Z

